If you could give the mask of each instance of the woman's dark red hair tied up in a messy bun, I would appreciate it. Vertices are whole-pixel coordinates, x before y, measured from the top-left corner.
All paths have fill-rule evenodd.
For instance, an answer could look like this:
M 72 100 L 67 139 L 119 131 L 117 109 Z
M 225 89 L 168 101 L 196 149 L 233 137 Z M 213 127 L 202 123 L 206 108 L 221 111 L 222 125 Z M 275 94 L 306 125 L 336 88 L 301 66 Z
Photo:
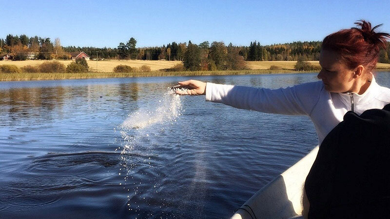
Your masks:
M 374 30 L 382 24 L 371 29 L 371 23 L 359 20 L 355 23 L 360 28 L 343 29 L 324 38 L 321 50 L 331 50 L 340 55 L 348 68 L 354 69 L 363 65 L 371 71 L 378 62 L 380 47 L 386 49 L 388 33 L 375 33 Z

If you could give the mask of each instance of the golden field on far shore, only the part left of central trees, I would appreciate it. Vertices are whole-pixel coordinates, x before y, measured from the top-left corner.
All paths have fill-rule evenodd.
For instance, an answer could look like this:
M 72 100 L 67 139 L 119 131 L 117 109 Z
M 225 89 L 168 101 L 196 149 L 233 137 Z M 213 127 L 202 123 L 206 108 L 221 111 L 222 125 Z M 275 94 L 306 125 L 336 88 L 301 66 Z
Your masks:
M 37 66 L 41 64 L 42 62 L 45 62 L 47 60 L 25 60 L 25 61 L 0 61 L 0 65 L 3 64 L 10 64 L 10 65 L 16 65 L 19 68 L 26 66 L 26 65 L 32 65 Z M 72 62 L 72 60 L 59 60 L 62 64 L 65 65 L 65 67 Z M 89 70 L 92 72 L 113 72 L 113 69 L 117 65 L 128 65 L 131 67 L 141 67 L 142 65 L 147 65 L 151 68 L 152 71 L 158 71 L 161 69 L 169 69 L 173 66 L 175 66 L 178 63 L 181 63 L 181 61 L 160 61 L 160 60 L 103 60 L 103 61 L 87 61 Z M 98 66 L 98 68 L 97 68 Z

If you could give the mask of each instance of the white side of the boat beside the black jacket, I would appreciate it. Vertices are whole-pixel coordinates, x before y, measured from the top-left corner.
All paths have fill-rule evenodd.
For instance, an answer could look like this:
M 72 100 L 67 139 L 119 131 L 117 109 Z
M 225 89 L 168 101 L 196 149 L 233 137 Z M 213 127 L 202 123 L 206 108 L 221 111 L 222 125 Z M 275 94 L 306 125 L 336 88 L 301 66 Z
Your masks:
M 301 218 L 303 186 L 319 147 L 266 184 L 231 219 Z

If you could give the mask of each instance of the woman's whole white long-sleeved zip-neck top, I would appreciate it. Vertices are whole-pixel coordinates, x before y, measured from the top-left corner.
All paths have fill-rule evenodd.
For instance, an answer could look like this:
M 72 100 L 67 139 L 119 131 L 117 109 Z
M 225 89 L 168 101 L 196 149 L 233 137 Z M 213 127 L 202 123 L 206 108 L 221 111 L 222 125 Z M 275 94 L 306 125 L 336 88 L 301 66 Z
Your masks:
M 307 115 L 314 123 L 318 142 L 343 121 L 349 110 L 358 115 L 369 109 L 382 109 L 390 103 L 390 89 L 381 87 L 372 77 L 363 94 L 333 93 L 322 81 L 276 90 L 207 83 L 206 100 L 239 109 L 286 115 Z

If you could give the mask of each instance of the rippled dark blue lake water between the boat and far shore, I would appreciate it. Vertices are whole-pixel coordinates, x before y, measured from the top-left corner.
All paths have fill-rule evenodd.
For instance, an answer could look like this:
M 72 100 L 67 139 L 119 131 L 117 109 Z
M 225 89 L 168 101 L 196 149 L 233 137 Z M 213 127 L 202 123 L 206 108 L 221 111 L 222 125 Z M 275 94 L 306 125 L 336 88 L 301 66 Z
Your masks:
M 176 96 L 316 73 L 0 82 L 0 218 L 229 218 L 317 143 L 309 118 Z M 390 87 L 390 73 L 378 73 Z

